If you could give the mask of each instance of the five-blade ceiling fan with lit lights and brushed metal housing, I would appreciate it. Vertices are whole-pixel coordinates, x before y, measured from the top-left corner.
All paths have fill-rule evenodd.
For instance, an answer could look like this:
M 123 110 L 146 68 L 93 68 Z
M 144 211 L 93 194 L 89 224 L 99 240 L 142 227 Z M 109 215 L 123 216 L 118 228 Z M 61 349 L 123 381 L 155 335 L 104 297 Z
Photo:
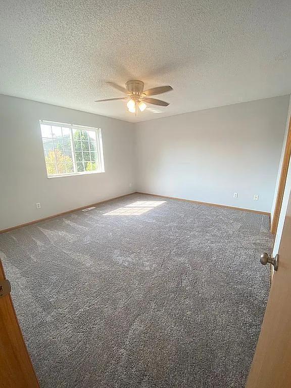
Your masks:
M 138 81 L 136 79 L 127 81 L 125 84 L 125 88 L 122 86 L 119 86 L 115 82 L 107 82 L 107 83 L 110 86 L 114 87 L 115 89 L 127 94 L 127 97 L 120 97 L 117 99 L 95 100 L 95 103 L 100 103 L 103 101 L 128 100 L 126 104 L 127 108 L 129 112 L 135 113 L 135 115 L 137 115 L 138 110 L 142 112 L 144 111 L 144 109 L 147 108 L 147 105 L 145 103 L 167 107 L 169 103 L 166 103 L 165 101 L 162 101 L 162 100 L 149 98 L 149 96 L 166 93 L 167 91 L 173 90 L 171 86 L 158 86 L 158 87 L 153 87 L 152 89 L 143 90 L 143 87 L 144 87 L 143 82 Z

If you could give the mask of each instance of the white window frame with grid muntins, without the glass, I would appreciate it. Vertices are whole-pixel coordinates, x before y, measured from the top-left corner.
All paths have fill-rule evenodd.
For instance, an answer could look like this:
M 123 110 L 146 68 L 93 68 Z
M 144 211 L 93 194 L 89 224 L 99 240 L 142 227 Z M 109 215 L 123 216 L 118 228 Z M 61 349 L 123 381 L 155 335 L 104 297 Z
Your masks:
M 47 121 L 47 120 L 39 120 L 39 128 L 40 128 L 40 133 L 41 133 L 41 126 L 40 124 L 44 125 L 51 125 L 54 127 L 66 127 L 70 129 L 70 141 L 71 141 L 71 152 L 72 152 L 72 157 L 73 157 L 73 168 L 74 172 L 66 172 L 64 174 L 47 174 L 46 170 L 46 164 L 45 164 L 45 170 L 46 170 L 46 175 L 47 178 L 60 178 L 64 176 L 72 176 L 72 175 L 87 175 L 87 174 L 99 174 L 101 172 L 105 172 L 104 168 L 104 156 L 103 156 L 103 142 L 102 142 L 102 130 L 101 128 L 94 128 L 94 127 L 86 127 L 84 125 L 76 125 L 76 124 L 68 124 L 68 123 L 59 123 L 59 122 L 54 122 L 54 121 Z M 98 165 L 100 166 L 99 170 L 94 170 L 94 171 L 77 171 L 77 164 L 76 164 L 76 155 L 75 155 L 75 144 L 73 140 L 73 129 L 77 130 L 89 130 L 89 131 L 95 131 L 96 133 L 96 154 L 97 154 L 97 159 L 98 159 Z M 63 134 L 63 131 L 62 131 Z M 53 144 L 54 144 L 54 138 L 52 137 Z M 64 147 L 64 138 L 62 135 L 62 140 L 63 140 L 63 147 Z M 43 148 L 43 157 L 45 161 L 45 151 L 43 147 L 43 140 L 42 140 L 42 134 L 41 134 L 41 142 L 42 142 L 42 148 Z M 54 147 L 55 149 L 55 147 Z M 65 151 L 65 150 L 64 150 Z M 81 142 L 81 151 L 82 151 L 82 156 L 83 156 L 83 149 L 82 149 L 82 142 Z M 89 151 L 90 152 L 90 143 L 89 143 Z M 91 158 L 91 156 L 90 156 Z M 66 163 L 66 161 L 65 161 Z M 83 166 L 84 166 L 84 159 L 83 159 Z M 85 168 L 85 166 L 84 166 Z

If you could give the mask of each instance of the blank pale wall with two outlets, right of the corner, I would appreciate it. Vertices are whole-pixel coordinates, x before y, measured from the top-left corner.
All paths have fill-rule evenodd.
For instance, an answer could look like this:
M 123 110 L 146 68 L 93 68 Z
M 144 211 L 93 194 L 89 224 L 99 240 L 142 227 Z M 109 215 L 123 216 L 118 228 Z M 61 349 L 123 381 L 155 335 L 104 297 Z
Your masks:
M 279 96 L 137 123 L 137 190 L 270 212 L 288 103 Z

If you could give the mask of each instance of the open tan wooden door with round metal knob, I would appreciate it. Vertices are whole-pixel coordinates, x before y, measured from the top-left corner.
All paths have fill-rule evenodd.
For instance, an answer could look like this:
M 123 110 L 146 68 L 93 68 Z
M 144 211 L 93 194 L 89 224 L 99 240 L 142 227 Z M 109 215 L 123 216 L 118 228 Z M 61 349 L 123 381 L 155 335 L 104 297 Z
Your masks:
M 269 300 L 246 388 L 291 387 L 291 196 Z

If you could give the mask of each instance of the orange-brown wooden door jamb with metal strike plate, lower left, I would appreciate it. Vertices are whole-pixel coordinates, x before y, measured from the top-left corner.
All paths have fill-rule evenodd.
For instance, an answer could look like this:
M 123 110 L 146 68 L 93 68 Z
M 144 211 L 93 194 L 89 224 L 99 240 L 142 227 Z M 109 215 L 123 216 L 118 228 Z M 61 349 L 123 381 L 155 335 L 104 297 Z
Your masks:
M 10 295 L 0 298 L 0 381 L 1 388 L 39 388 Z

